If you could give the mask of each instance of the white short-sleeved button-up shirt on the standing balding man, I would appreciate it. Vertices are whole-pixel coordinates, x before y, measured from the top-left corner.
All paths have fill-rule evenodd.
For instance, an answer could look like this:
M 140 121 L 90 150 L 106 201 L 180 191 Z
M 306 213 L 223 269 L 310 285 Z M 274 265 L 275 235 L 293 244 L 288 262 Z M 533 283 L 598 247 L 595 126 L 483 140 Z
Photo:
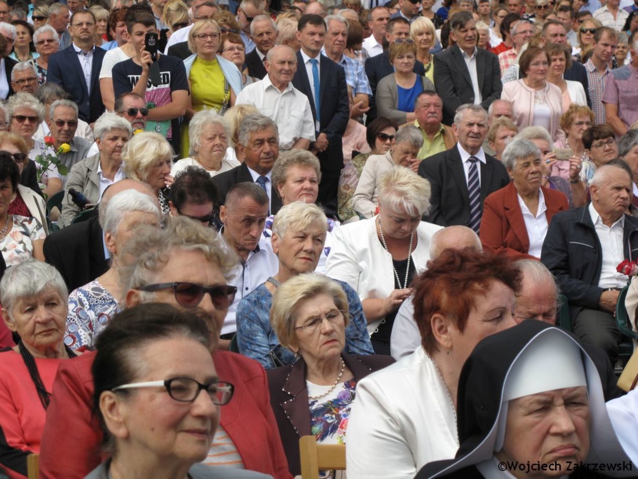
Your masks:
M 257 50 L 259 53 L 259 50 Z M 274 86 L 270 75 L 250 84 L 237 95 L 235 105 L 254 105 L 272 119 L 279 130 L 279 149 L 290 149 L 300 138 L 315 141 L 315 121 L 308 96 L 289 82 L 284 91 Z

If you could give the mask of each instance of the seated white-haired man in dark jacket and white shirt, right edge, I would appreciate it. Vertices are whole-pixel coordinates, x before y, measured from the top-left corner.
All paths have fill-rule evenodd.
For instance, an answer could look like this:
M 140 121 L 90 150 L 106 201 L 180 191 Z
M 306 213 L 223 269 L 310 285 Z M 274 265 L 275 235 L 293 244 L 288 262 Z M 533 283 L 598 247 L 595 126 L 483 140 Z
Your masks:
M 623 165 L 598 167 L 590 183 L 591 202 L 552 218 L 540 255 L 569 301 L 574 333 L 601 347 L 612 364 L 622 333 L 614 312 L 627 276 L 616 271 L 638 250 L 638 219 L 626 213 L 632 178 Z

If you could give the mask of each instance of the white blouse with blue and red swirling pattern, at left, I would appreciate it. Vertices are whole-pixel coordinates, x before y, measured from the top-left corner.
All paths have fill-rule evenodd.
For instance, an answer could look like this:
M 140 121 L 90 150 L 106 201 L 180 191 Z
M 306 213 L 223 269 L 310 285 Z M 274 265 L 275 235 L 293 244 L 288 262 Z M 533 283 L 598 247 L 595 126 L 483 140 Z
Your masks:
M 117 301 L 98 280 L 71 291 L 64 344 L 71 349 L 93 347 L 108 321 L 119 310 Z

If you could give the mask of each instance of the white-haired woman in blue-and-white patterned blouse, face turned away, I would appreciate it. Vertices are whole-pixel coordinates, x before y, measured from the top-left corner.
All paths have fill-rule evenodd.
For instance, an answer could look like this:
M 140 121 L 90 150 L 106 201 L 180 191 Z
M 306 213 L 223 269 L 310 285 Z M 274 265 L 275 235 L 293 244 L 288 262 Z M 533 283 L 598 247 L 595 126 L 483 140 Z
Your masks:
M 156 202 L 136 190 L 116 194 L 101 215 L 104 245 L 110 254 L 111 266 L 106 273 L 69 295 L 64 343 L 71 349 L 93 347 L 98 335 L 119 310 L 126 293 L 119 274 L 124 261 L 122 248 L 135 234 L 137 225 L 159 227 L 161 220 Z

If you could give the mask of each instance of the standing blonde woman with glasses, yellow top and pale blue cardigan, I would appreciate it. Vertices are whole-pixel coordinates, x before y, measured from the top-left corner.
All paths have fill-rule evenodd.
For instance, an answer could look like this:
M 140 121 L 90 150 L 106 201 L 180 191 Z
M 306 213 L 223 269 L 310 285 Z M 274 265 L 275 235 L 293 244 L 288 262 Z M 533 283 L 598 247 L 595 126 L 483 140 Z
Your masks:
M 242 76 L 232 61 L 218 54 L 221 30 L 215 20 L 198 20 L 188 33 L 188 49 L 193 52 L 184 60 L 191 95 L 185 118 L 190 121 L 196 112 L 214 109 L 223 114 L 235 104 L 242 89 Z M 182 126 L 181 153 L 189 151 L 187 125 Z

